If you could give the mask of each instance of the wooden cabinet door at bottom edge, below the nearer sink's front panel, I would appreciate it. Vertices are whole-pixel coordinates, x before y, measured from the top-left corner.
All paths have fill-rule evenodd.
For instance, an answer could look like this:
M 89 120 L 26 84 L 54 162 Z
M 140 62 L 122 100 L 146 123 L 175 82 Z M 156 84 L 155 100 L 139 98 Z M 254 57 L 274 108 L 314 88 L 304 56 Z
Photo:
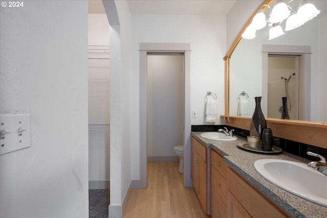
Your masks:
M 227 191 L 227 217 L 229 218 L 251 218 L 250 214 L 238 202 L 238 200 Z

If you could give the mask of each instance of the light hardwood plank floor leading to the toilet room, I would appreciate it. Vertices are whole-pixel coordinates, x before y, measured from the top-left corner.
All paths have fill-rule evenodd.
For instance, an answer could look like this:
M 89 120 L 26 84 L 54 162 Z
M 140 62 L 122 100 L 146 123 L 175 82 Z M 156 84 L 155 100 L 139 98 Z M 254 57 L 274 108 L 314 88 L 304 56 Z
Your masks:
M 148 163 L 148 188 L 132 189 L 123 218 L 211 217 L 193 188 L 184 188 L 178 162 Z

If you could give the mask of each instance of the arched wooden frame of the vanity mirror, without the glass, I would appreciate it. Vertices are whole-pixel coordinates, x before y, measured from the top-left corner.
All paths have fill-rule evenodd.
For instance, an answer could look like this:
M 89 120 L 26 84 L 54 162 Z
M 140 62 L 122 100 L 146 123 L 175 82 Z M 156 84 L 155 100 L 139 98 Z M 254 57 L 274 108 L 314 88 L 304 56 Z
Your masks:
M 235 51 L 236 47 L 242 40 L 242 33 L 245 31 L 246 27 L 251 23 L 254 15 L 263 8 L 267 7 L 264 5 L 272 5 L 273 0 L 263 1 L 262 4 L 256 9 L 249 20 L 245 23 L 244 27 L 241 29 L 240 33 L 233 41 L 230 49 L 228 50 L 225 60 L 225 115 L 222 117 L 225 120 L 225 124 L 249 130 L 251 117 L 236 116 L 229 114 L 230 105 L 230 58 L 232 53 Z M 253 113 L 253 111 L 250 111 Z M 250 114 L 252 115 L 252 114 Z M 313 146 L 327 148 L 327 123 L 321 122 L 309 122 L 302 120 L 286 120 L 286 119 L 276 119 L 276 118 L 266 118 L 268 128 L 272 129 L 273 135 L 276 137 L 281 137 L 293 141 L 298 141 L 302 143 L 311 144 Z

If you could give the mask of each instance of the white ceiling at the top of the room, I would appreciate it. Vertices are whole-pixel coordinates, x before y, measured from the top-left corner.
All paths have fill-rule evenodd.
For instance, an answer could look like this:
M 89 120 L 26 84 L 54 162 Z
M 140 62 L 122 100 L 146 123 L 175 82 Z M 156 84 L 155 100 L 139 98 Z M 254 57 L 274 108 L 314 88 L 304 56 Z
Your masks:
M 105 0 L 106 1 L 106 0 Z M 128 0 L 131 14 L 227 15 L 236 0 Z M 105 13 L 102 1 L 89 0 L 89 13 Z

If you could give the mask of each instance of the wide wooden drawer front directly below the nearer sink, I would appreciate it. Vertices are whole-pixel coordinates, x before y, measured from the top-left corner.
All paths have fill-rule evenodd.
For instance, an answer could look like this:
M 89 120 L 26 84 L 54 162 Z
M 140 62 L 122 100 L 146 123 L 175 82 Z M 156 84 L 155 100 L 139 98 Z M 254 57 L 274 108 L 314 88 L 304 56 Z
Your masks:
M 230 168 L 227 169 L 227 181 L 228 190 L 252 217 L 289 217 Z

